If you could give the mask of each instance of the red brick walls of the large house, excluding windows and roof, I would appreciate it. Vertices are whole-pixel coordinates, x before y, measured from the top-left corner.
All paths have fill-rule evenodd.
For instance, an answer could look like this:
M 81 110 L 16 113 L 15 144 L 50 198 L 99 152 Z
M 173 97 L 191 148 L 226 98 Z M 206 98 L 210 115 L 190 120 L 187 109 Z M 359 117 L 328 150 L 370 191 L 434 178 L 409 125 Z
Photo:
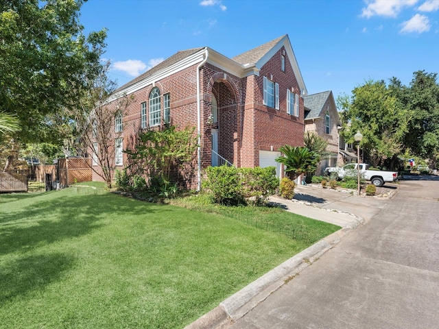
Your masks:
M 287 114 L 287 88 L 290 90 L 294 88 L 294 92 L 299 94 L 300 90 L 286 53 L 285 72 L 281 71 L 282 52 L 283 49 L 280 49 L 262 66 L 259 76 L 239 78 L 212 64 L 204 64 L 200 70 L 202 167 L 211 164 L 211 127 L 207 125 L 207 121 L 211 115 L 212 93 L 218 105 L 219 154 L 237 167 L 258 166 L 260 149 L 270 150 L 273 147 L 276 151 L 278 147 L 285 144 L 303 145 L 303 100 L 299 97 L 298 118 Z M 163 95 L 170 93 L 171 124 L 181 128 L 188 125 L 197 127 L 196 68 L 197 65 L 193 65 L 156 82 L 155 86 L 161 91 L 162 125 Z M 264 75 L 268 78 L 272 75 L 272 81 L 279 84 L 280 110 L 263 106 Z M 127 147 L 130 138 L 141 130 L 141 103 L 148 101 L 152 88 L 152 85 L 146 86 L 133 95 L 134 100 L 123 116 L 123 147 Z M 127 164 L 126 154 L 123 156 L 123 164 Z M 189 186 L 195 188 L 197 165 L 195 155 L 193 162 L 195 170 L 187 171 L 184 175 L 175 172 L 174 178 L 189 180 Z M 93 173 L 93 180 L 97 179 L 97 175 Z

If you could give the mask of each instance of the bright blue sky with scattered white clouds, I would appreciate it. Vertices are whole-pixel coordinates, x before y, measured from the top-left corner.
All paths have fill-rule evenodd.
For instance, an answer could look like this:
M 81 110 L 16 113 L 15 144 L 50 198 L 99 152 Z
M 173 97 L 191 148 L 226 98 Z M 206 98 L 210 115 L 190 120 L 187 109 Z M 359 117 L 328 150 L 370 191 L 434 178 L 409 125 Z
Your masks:
M 231 58 L 284 34 L 309 94 L 439 73 L 439 0 L 88 0 L 80 21 L 108 29 L 119 86 L 179 50 Z

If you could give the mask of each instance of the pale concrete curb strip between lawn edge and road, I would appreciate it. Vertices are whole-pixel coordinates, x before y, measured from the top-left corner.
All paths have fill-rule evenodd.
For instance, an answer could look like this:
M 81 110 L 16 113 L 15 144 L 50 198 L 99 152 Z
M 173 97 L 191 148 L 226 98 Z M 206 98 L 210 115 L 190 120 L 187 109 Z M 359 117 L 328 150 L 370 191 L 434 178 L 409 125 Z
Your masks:
M 364 223 L 364 219 L 357 217 L 348 226 L 330 234 L 292 258 L 285 260 L 284 263 L 265 273 L 261 278 L 231 295 L 209 313 L 186 326 L 185 329 L 230 328 L 230 326 L 241 319 L 241 317 L 244 317 L 259 303 L 263 302 L 274 291 L 294 279 L 303 269 L 312 265 L 320 256 L 337 245 L 346 234 Z

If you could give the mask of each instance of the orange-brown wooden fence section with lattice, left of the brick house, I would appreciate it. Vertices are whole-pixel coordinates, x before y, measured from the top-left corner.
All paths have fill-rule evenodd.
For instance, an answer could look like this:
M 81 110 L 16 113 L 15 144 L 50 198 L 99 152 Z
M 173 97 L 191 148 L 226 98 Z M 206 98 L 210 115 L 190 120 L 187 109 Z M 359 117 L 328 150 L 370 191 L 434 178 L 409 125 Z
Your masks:
M 58 175 L 63 186 L 91 181 L 91 158 L 58 159 Z

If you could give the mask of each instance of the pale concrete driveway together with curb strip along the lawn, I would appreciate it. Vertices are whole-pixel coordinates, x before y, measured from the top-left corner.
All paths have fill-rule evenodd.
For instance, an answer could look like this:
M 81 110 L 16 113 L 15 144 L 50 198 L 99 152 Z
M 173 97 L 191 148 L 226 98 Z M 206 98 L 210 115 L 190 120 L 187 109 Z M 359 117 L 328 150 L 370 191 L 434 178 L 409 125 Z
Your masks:
M 396 190 L 392 192 L 396 193 Z M 297 276 L 305 267 L 311 265 L 322 254 L 337 245 L 346 234 L 368 221 L 388 204 L 386 202 L 388 198 L 363 197 L 351 193 L 331 191 L 318 186 L 298 186 L 295 192 L 293 200 L 270 197 L 270 202 L 282 206 L 289 212 L 333 223 L 342 229 L 311 245 L 261 278 L 248 284 L 247 287 L 228 297 L 211 312 L 187 326 L 186 329 L 233 328 L 233 324 L 257 304 L 263 302 L 265 298 Z

